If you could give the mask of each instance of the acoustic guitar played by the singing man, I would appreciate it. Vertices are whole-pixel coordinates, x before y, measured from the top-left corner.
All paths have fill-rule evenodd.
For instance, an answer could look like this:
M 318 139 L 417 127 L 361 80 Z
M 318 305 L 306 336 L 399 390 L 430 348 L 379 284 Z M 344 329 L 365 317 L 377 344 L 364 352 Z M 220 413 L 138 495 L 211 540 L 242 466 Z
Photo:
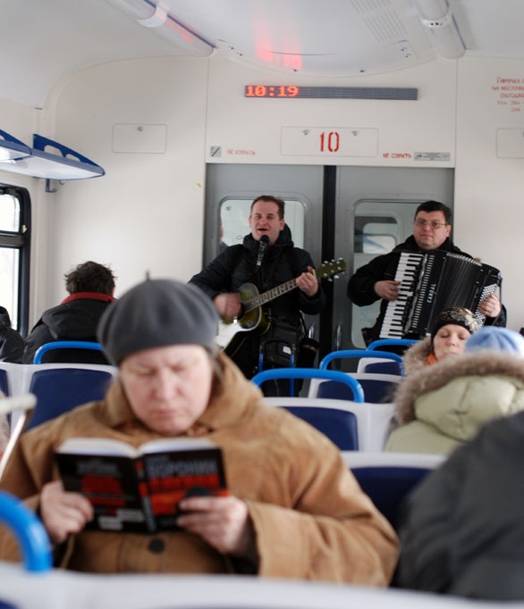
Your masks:
M 315 269 L 315 275 L 320 279 L 334 277 L 346 270 L 346 261 L 343 258 L 332 260 L 321 264 Z M 234 320 L 223 320 L 220 323 L 216 335 L 216 345 L 231 356 L 234 355 L 242 342 L 247 338 L 249 332 L 264 334 L 269 330 L 271 322 L 262 310 L 262 305 L 267 304 L 278 296 L 282 296 L 297 287 L 297 278 L 290 279 L 276 288 L 268 289 L 259 294 L 257 286 L 253 283 L 244 283 L 239 289 L 242 304 L 242 314 Z

